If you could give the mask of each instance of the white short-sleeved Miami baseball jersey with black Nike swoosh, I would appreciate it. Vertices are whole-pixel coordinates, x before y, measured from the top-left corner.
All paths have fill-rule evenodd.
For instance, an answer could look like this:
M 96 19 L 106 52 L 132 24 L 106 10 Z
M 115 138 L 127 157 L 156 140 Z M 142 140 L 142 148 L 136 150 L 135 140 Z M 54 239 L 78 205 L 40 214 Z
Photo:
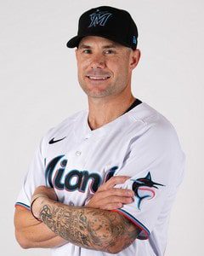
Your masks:
M 59 201 L 84 206 L 113 175 L 130 176 L 117 187 L 133 189 L 133 203 L 116 210 L 141 230 L 119 256 L 164 255 L 169 213 L 183 179 L 185 154 L 173 125 L 145 102 L 92 131 L 88 110 L 54 127 L 37 148 L 16 205 L 30 209 L 39 185 L 54 188 Z M 54 256 L 108 256 L 67 243 Z

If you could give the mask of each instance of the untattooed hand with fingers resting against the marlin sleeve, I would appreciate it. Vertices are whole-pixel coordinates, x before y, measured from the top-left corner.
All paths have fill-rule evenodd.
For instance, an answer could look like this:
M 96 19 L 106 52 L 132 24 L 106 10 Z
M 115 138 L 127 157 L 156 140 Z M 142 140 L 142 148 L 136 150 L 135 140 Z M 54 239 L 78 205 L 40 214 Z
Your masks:
M 114 188 L 116 184 L 124 183 L 128 178 L 130 177 L 111 177 L 106 183 L 99 187 L 85 207 L 114 210 L 121 208 L 123 204 L 133 202 L 133 190 Z

